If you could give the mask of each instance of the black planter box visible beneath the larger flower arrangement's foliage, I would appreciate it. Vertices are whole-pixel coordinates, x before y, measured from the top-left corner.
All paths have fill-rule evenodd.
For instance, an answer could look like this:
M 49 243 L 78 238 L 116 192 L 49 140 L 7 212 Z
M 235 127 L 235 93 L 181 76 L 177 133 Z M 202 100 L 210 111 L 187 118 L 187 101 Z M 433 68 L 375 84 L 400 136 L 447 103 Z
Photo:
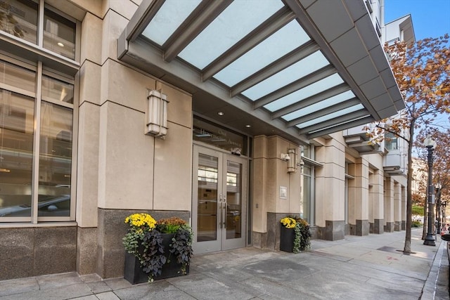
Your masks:
M 162 245 L 165 249 L 166 259 L 170 259 L 167 261 L 164 266 L 162 266 L 161 275 L 156 276 L 153 280 L 171 278 L 181 275 L 187 275 L 189 273 L 189 266 L 186 266 L 186 274 L 181 272 L 181 263 L 176 262 L 176 256 L 172 254 L 169 257 L 169 249 L 170 242 L 172 242 L 172 237 L 174 234 L 162 233 Z M 139 259 L 136 259 L 134 254 L 125 253 L 125 270 L 124 270 L 124 278 L 128 280 L 131 284 L 147 282 L 148 274 L 145 273 L 141 268 L 141 263 Z

